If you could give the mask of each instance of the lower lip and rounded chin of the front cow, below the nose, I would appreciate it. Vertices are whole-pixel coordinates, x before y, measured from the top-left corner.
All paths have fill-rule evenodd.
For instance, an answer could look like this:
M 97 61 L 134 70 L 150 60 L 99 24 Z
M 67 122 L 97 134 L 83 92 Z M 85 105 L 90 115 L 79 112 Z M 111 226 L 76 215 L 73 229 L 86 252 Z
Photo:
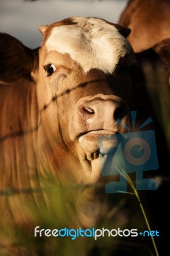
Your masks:
M 89 131 L 81 134 L 78 140 L 86 152 L 88 160 L 92 161 L 97 159 L 99 155 L 106 157 L 112 152 L 118 143 L 114 136 L 117 133 L 109 130 Z

